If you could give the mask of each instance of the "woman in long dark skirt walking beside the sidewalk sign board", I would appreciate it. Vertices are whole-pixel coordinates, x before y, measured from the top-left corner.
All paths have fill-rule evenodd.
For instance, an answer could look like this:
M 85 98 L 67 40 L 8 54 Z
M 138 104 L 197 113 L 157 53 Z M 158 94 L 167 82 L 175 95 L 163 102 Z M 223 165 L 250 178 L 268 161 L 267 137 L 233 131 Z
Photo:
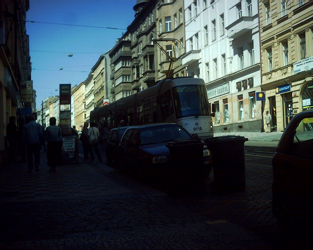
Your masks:
M 56 126 L 55 117 L 49 119 L 50 126 L 46 128 L 47 140 L 47 160 L 50 172 L 56 172 L 56 166 L 61 162 L 62 157 L 62 132 L 59 126 Z

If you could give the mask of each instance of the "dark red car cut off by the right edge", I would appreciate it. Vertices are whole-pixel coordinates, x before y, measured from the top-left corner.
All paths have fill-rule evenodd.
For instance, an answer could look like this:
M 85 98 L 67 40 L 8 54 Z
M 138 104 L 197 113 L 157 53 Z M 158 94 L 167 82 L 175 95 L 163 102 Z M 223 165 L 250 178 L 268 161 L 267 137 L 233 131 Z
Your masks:
M 313 110 L 296 114 L 273 158 L 273 215 L 284 229 L 312 232 Z

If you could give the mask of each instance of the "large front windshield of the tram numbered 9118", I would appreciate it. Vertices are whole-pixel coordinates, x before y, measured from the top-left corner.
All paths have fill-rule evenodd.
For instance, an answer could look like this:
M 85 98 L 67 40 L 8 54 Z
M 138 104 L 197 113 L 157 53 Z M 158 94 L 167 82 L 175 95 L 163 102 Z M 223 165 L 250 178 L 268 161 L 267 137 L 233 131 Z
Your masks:
M 203 85 L 182 85 L 172 88 L 177 118 L 209 116 L 208 95 Z

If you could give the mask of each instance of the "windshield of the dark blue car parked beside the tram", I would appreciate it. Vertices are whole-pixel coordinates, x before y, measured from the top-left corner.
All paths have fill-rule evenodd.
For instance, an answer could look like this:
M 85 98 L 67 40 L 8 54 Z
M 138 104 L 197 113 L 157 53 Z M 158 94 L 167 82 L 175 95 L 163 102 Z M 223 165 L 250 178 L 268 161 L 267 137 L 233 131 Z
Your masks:
M 140 132 L 141 145 L 169 142 L 184 138 L 191 138 L 191 135 L 178 124 L 143 128 Z

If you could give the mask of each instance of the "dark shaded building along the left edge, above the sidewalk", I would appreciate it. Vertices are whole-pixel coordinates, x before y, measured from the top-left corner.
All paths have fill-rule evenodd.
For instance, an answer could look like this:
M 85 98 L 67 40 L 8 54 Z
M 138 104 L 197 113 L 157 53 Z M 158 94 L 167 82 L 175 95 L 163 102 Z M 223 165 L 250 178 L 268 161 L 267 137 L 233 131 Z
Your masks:
M 12 0 L 0 1 L 0 165 L 8 160 L 5 149 L 9 117 L 15 116 L 18 121 L 20 109 L 26 107 L 35 112 L 33 98 L 25 103 L 20 98 L 24 81 L 31 80 L 29 37 L 24 22 L 28 9 L 29 0 L 20 0 L 18 4 Z

